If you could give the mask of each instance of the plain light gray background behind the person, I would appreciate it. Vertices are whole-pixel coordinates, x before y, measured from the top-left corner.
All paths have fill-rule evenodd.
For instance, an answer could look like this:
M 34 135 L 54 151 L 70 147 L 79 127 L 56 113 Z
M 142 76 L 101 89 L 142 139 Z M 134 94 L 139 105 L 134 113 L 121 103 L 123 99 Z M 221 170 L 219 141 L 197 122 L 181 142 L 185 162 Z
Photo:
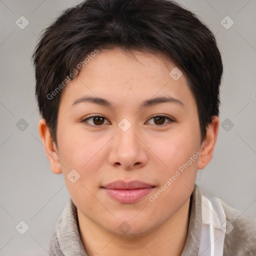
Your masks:
M 62 174 L 50 170 L 37 131 L 40 116 L 30 58 L 38 33 L 79 2 L 0 0 L 0 255 L 48 255 L 69 197 Z M 224 64 L 218 139 L 196 183 L 206 196 L 216 195 L 256 218 L 256 1 L 179 2 L 216 35 Z M 24 29 L 15 23 L 21 15 L 29 21 Z M 223 19 L 227 15 L 234 21 L 228 29 L 222 25 L 231 24 Z M 21 220 L 29 226 L 23 235 L 15 229 Z

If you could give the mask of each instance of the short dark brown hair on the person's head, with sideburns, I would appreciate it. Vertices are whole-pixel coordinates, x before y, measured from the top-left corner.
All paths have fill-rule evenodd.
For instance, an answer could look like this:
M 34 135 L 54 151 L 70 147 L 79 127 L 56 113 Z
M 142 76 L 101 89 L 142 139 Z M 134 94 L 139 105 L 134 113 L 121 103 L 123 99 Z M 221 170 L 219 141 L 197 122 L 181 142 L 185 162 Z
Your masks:
M 163 53 L 183 72 L 196 101 L 202 142 L 219 114 L 221 55 L 206 25 L 170 0 L 86 0 L 43 31 L 32 55 L 35 94 L 53 141 L 63 81 L 71 80 L 74 69 L 79 72 L 76 66 L 88 53 L 116 46 Z

